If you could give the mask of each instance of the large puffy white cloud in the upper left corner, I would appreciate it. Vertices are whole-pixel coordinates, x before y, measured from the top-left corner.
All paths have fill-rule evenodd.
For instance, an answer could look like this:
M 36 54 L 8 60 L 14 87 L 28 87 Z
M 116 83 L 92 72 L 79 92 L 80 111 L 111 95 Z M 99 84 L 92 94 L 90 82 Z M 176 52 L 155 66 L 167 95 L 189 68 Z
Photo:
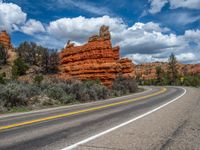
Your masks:
M 0 3 L 0 30 L 17 31 L 25 23 L 26 17 L 27 14 L 18 5 Z

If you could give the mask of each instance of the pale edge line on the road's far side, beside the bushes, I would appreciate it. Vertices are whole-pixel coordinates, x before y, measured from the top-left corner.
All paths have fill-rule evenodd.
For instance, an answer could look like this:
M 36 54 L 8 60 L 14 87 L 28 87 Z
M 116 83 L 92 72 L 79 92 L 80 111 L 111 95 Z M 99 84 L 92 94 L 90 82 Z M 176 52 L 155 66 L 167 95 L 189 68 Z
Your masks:
M 8 118 L 8 117 L 17 117 L 17 116 L 21 116 L 21 115 L 28 115 L 28 114 L 34 114 L 34 113 L 40 113 L 40 112 L 54 111 L 54 110 L 59 110 L 59 109 L 64 109 L 64 108 L 73 108 L 73 107 L 78 107 L 78 106 L 85 106 L 85 105 L 88 105 L 88 104 L 96 104 L 96 103 L 100 103 L 100 102 L 107 102 L 107 101 L 112 101 L 112 100 L 119 99 L 119 98 L 128 98 L 130 96 L 140 95 L 140 94 L 152 91 L 152 88 L 150 88 L 150 87 L 143 87 L 143 88 L 146 89 L 143 92 L 133 93 L 133 94 L 124 95 L 124 96 L 115 97 L 115 98 L 109 98 L 109 99 L 105 99 L 105 100 L 102 100 L 102 101 L 87 102 L 87 103 L 82 103 L 82 104 L 72 104 L 72 105 L 59 106 L 59 107 L 54 107 L 54 108 L 44 108 L 44 109 L 33 110 L 33 111 L 29 111 L 29 112 L 0 114 L 0 119 L 4 119 L 4 118 Z

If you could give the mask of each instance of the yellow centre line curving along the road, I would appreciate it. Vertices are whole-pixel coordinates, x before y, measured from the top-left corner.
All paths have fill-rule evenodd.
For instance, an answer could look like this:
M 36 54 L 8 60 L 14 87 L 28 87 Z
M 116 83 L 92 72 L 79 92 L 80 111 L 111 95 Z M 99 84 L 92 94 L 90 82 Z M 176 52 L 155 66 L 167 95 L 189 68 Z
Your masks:
M 162 88 L 158 92 L 155 92 L 155 93 L 152 93 L 152 94 L 149 94 L 149 95 L 146 95 L 146 96 L 137 97 L 137 98 L 130 99 L 130 100 L 125 100 L 125 101 L 121 101 L 121 102 L 116 102 L 116 103 L 111 103 L 111 104 L 107 104 L 107 105 L 92 107 L 92 108 L 88 108 L 88 109 L 68 112 L 68 113 L 64 113 L 64 114 L 60 114 L 60 115 L 55 115 L 55 116 L 35 119 L 35 120 L 31 120 L 31 121 L 25 121 L 25 122 L 21 122 L 21 123 L 15 123 L 15 124 L 6 125 L 6 126 L 0 126 L 0 131 L 1 130 L 5 130 L 5 129 L 14 128 L 14 127 L 23 126 L 23 125 L 29 125 L 29 124 L 33 124 L 33 123 L 42 122 L 42 121 L 48 121 L 48 120 L 52 120 L 52 119 L 68 117 L 68 116 L 77 115 L 77 114 L 86 113 L 86 112 L 91 112 L 91 111 L 95 111 L 95 110 L 100 110 L 100 109 L 104 109 L 104 108 L 108 108 L 108 107 L 127 104 L 127 103 L 131 103 L 131 102 L 134 102 L 134 101 L 137 101 L 137 100 L 142 100 L 142 99 L 145 99 L 145 98 L 150 98 L 150 97 L 159 95 L 161 93 L 164 93 L 166 90 L 167 90 L 166 88 Z

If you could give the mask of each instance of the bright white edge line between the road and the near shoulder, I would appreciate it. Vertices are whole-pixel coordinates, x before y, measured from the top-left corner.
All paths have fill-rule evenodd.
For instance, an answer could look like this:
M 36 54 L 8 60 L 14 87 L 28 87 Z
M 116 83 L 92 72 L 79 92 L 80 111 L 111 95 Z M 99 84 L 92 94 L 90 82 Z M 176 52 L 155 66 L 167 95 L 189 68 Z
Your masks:
M 115 126 L 115 127 L 113 127 L 113 128 L 110 128 L 110 129 L 108 129 L 108 130 L 105 130 L 105 131 L 103 131 L 103 132 L 101 132 L 101 133 L 99 133 L 99 134 L 96 134 L 96 135 L 94 135 L 94 136 L 91 136 L 91 137 L 89 137 L 89 138 L 87 138 L 87 139 L 85 139 L 85 140 L 82 140 L 82 141 L 80 141 L 80 142 L 78 142 L 78 143 L 75 143 L 75 144 L 73 144 L 73 145 L 70 145 L 70 146 L 68 146 L 68 147 L 66 147 L 66 148 L 63 148 L 62 150 L 71 150 L 71 149 L 73 149 L 73 148 L 76 148 L 77 146 L 79 146 L 79 145 L 81 145 L 81 144 L 85 144 L 85 143 L 87 143 L 87 142 L 89 142 L 89 141 L 92 141 L 92 140 L 94 140 L 94 139 L 96 139 L 96 138 L 102 136 L 102 135 L 105 135 L 105 134 L 107 134 L 107 133 L 109 133 L 109 132 L 112 132 L 112 131 L 114 131 L 114 130 L 116 130 L 116 129 L 118 129 L 118 128 L 121 128 L 121 127 L 123 127 L 123 126 L 125 126 L 125 125 L 127 125 L 127 124 L 130 124 L 130 123 L 132 123 L 132 122 L 134 122 L 134 121 L 136 121 L 136 120 L 138 120 L 138 119 L 141 119 L 141 118 L 143 118 L 143 117 L 146 117 L 146 116 L 152 114 L 153 112 L 155 112 L 155 111 L 157 111 L 157 110 L 159 110 L 159 109 L 161 109 L 161 108 L 163 108 L 163 107 L 165 107 L 165 106 L 167 106 L 167 105 L 173 103 L 174 101 L 178 100 L 179 98 L 181 98 L 183 95 L 186 94 L 186 89 L 185 89 L 185 88 L 182 88 L 182 87 L 179 87 L 179 88 L 183 89 L 184 92 L 183 92 L 180 96 L 176 97 L 175 99 L 172 99 L 171 101 L 169 101 L 169 102 L 167 102 L 167 103 L 165 103 L 165 104 L 163 104 L 163 105 L 161 105 L 161 106 L 159 106 L 159 107 L 157 107 L 157 108 L 155 108 L 155 109 L 153 109 L 153 110 L 150 110 L 150 111 L 148 111 L 148 112 L 146 112 L 146 113 L 144 113 L 144 114 L 142 114 L 142 115 L 140 115 L 140 116 L 137 116 L 137 117 L 135 117 L 135 118 L 133 118 L 133 119 L 127 121 L 127 122 L 124 122 L 124 123 L 122 123 L 122 124 L 119 124 L 119 125 L 117 125 L 117 126 Z

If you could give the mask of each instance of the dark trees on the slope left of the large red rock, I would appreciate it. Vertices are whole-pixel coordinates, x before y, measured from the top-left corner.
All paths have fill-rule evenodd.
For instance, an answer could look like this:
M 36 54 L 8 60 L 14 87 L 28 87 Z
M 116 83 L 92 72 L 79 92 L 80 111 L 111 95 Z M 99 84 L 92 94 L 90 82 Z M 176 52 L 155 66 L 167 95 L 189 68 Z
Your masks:
M 31 66 L 40 68 L 40 73 L 57 73 L 59 57 L 55 49 L 49 49 L 34 42 L 23 42 L 14 50 L 18 57 L 12 65 L 12 76 L 24 75 Z M 8 52 L 0 44 L 0 65 L 8 63 Z

